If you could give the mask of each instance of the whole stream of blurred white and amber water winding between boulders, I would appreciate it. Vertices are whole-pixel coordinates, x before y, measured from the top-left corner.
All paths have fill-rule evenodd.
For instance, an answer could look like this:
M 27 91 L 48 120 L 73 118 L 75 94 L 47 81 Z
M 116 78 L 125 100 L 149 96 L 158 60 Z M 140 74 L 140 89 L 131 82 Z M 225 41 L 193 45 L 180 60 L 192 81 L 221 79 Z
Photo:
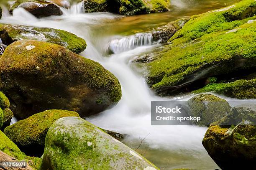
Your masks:
M 148 31 L 172 20 L 237 1 L 172 0 L 172 8 L 166 13 L 129 17 L 111 13 L 84 13 L 82 3 L 74 4 L 69 9 L 62 8 L 62 16 L 41 19 L 22 8 L 15 9 L 13 16 L 10 16 L 3 8 L 4 15 L 0 22 L 57 28 L 84 38 L 87 48 L 80 55 L 100 62 L 119 79 L 122 86 L 122 99 L 114 108 L 87 120 L 99 127 L 128 134 L 124 142 L 133 149 L 140 144 L 140 138 L 146 136 L 137 151 L 161 169 L 214 170 L 218 166 L 202 146 L 206 127 L 151 126 L 151 101 L 187 100 L 192 96 L 156 96 L 143 78 L 143 68 L 132 61 L 161 46 L 153 41 Z M 109 51 L 113 54 L 108 55 Z

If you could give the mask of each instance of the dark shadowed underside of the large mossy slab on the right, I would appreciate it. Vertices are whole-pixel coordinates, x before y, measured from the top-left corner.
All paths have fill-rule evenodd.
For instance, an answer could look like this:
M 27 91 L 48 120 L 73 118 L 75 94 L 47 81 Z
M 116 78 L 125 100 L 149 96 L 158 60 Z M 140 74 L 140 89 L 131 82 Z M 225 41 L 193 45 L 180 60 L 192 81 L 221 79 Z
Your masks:
M 240 58 L 240 59 L 243 60 L 243 58 Z M 209 77 L 216 77 L 218 80 L 216 83 L 230 83 L 239 79 L 251 80 L 251 79 L 255 79 L 256 77 L 255 66 L 249 67 L 246 69 L 238 69 L 240 68 L 240 66 L 238 66 L 238 68 L 236 68 L 235 66 L 231 66 L 233 67 L 233 71 L 228 73 L 224 73 L 224 72 L 218 73 L 218 71 L 215 70 L 215 68 L 230 67 L 230 66 L 227 66 L 227 64 L 230 65 L 230 63 L 223 61 L 221 63 L 210 66 L 208 68 L 203 68 L 194 74 L 190 74 L 189 76 L 186 76 L 183 83 L 180 85 L 164 86 L 159 89 L 156 89 L 155 90 L 156 94 L 160 96 L 173 96 L 177 94 L 186 94 L 206 86 L 209 83 L 207 82 L 207 79 Z M 239 63 L 239 60 L 238 60 L 238 64 L 241 64 Z

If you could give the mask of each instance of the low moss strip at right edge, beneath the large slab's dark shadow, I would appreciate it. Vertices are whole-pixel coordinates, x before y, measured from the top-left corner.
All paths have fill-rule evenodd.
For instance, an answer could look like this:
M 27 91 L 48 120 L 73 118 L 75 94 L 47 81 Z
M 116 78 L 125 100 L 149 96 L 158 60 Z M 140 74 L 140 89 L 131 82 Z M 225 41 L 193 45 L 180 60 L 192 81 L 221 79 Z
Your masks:
M 215 91 L 237 99 L 256 99 L 256 79 L 237 80 L 231 83 L 208 84 L 192 93 Z

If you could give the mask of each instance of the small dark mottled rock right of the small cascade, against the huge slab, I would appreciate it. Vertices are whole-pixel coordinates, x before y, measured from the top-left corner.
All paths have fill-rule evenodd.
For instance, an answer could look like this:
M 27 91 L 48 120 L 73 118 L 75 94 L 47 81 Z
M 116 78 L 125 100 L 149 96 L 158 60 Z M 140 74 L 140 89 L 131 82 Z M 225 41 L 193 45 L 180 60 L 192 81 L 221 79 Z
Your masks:
M 157 33 L 154 36 L 154 41 L 159 41 L 160 43 L 166 43 L 178 30 L 180 30 L 189 18 L 182 18 L 168 23 L 157 29 Z

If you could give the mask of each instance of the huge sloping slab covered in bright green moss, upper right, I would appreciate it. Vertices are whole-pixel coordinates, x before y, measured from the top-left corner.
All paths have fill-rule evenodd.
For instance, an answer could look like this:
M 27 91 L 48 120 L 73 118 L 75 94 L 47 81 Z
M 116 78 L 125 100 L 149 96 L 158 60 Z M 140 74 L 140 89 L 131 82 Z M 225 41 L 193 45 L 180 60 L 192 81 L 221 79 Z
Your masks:
M 256 68 L 256 1 L 242 0 L 220 10 L 194 15 L 153 53 L 147 82 L 159 94 L 205 86 L 213 76 Z M 233 78 L 233 77 L 231 77 Z

